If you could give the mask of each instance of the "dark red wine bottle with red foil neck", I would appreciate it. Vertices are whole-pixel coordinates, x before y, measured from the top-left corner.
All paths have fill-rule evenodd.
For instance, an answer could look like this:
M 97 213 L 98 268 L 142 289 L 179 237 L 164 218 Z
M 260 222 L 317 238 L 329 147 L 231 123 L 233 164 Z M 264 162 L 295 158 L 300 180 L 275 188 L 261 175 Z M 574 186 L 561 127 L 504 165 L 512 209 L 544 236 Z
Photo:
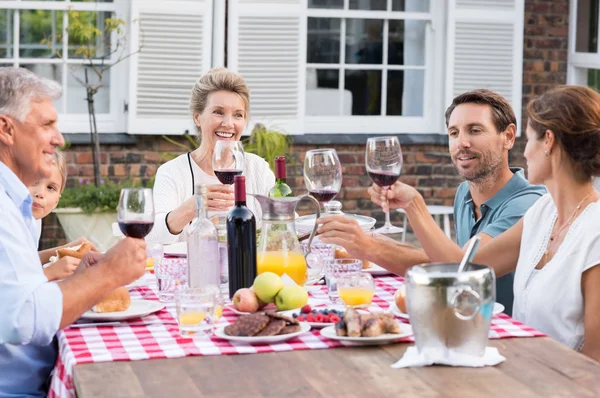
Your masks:
M 246 207 L 246 177 L 234 177 L 235 205 L 227 215 L 229 297 L 256 278 L 256 220 Z

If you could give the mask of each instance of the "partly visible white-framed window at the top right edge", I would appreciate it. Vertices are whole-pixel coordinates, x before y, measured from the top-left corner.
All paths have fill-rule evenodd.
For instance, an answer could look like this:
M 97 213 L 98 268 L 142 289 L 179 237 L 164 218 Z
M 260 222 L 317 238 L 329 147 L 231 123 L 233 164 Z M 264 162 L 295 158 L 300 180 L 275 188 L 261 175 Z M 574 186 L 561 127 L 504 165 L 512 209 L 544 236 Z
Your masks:
M 600 90 L 599 0 L 571 2 L 567 81 Z

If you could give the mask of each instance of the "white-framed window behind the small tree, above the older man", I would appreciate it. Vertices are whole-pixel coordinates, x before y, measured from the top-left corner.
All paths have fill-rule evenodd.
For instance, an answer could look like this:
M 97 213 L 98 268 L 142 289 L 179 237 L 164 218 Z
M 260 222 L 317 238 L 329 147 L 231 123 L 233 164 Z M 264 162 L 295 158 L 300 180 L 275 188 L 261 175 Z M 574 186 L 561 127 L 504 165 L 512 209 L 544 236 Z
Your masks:
M 75 49 L 81 43 L 64 34 L 73 22 L 73 12 L 100 31 L 106 18 L 113 17 L 118 3 L 113 0 L 11 1 L 0 5 L 0 65 L 27 68 L 62 85 L 63 96 L 55 102 L 63 132 L 89 131 L 85 88 L 86 67 Z M 121 5 L 122 6 L 122 5 Z M 102 37 L 92 48 L 95 63 L 110 62 L 111 38 Z M 108 57 L 108 58 L 107 58 Z M 88 70 L 88 72 L 91 72 Z M 97 82 L 94 73 L 88 79 Z M 123 131 L 117 108 L 122 99 L 114 90 L 115 69 L 104 74 L 103 86 L 95 96 L 99 131 Z M 119 105 L 119 106 L 117 106 Z

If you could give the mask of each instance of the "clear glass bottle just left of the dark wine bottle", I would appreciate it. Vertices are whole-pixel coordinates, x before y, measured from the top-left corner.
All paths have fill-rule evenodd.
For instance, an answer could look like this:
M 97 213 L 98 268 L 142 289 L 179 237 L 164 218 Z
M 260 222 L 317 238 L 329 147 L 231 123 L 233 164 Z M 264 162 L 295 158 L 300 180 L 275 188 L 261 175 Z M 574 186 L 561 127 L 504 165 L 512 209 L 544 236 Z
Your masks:
M 188 285 L 189 287 L 219 286 L 219 236 L 217 228 L 207 217 L 208 188 L 198 184 L 194 188 L 196 218 L 187 229 Z

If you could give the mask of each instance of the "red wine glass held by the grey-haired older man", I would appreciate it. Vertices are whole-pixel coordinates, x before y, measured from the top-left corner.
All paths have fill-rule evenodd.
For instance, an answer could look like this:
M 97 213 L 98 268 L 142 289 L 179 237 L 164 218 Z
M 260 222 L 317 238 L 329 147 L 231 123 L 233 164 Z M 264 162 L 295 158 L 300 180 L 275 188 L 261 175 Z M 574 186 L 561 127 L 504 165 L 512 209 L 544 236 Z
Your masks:
M 154 199 L 150 188 L 124 188 L 117 208 L 123 235 L 144 239 L 154 226 Z

